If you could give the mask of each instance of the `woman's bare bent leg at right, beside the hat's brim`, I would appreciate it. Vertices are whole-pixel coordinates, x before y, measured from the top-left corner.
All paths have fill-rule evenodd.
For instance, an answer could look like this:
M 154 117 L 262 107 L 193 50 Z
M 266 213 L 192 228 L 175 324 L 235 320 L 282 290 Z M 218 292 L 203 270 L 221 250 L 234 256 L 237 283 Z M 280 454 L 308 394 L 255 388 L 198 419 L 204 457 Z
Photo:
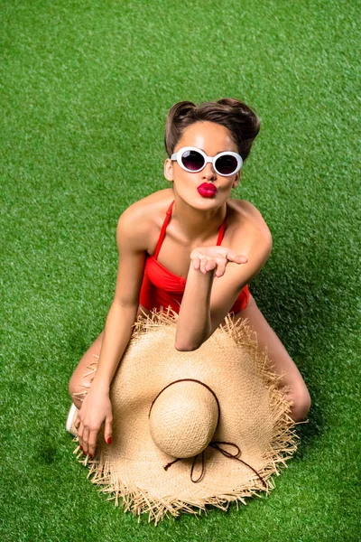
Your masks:
M 286 397 L 292 402 L 291 417 L 295 422 L 303 420 L 310 410 L 310 393 L 301 377 L 294 361 L 277 337 L 263 313 L 257 307 L 253 295 L 250 295 L 247 306 L 237 313 L 235 319 L 247 318 L 251 328 L 257 333 L 258 344 L 262 350 L 267 347 L 268 357 L 273 363 L 274 370 L 281 374 L 285 372 L 280 382 L 280 388 L 286 387 Z

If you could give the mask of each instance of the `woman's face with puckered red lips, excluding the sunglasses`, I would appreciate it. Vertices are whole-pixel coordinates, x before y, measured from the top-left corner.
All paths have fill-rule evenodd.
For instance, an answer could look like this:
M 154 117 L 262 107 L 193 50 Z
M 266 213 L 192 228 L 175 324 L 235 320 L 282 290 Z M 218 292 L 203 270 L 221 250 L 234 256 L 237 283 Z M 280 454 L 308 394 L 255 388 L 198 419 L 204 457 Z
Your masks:
M 180 148 L 193 146 L 201 149 L 208 156 L 232 151 L 237 153 L 236 143 L 230 131 L 214 122 L 196 122 L 183 132 L 180 141 L 174 149 L 176 153 Z M 216 209 L 229 198 L 232 188 L 239 182 L 239 172 L 225 177 L 216 172 L 213 164 L 208 163 L 198 173 L 183 170 L 176 161 L 167 158 L 164 164 L 164 175 L 168 181 L 173 181 L 173 190 L 180 198 L 196 209 Z M 198 188 L 204 184 L 217 189 L 212 197 L 205 197 L 199 193 Z M 200 192 L 202 190 L 200 189 Z

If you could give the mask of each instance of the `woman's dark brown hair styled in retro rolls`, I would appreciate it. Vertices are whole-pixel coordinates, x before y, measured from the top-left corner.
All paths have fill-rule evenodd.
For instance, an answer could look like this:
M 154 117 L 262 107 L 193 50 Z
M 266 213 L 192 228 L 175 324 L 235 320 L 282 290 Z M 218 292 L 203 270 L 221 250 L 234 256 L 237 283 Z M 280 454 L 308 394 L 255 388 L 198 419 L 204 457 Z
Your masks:
M 182 101 L 171 107 L 165 123 L 164 145 L 169 157 L 184 130 L 193 123 L 202 121 L 226 126 L 243 160 L 250 153 L 255 136 L 260 130 L 259 119 L 254 111 L 236 98 L 205 102 L 199 107 L 192 102 Z

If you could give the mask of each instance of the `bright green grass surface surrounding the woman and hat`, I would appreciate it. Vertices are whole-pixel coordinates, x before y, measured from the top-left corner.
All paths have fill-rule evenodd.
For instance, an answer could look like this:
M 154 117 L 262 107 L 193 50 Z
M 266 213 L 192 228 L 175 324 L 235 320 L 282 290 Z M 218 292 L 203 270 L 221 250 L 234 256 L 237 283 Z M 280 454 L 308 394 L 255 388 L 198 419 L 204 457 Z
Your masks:
M 1 540 L 360 539 L 360 11 L 0 2 Z M 310 388 L 310 423 L 269 497 L 154 528 L 87 480 L 68 382 L 112 301 L 119 215 L 166 187 L 168 108 L 228 96 L 261 118 L 237 189 L 273 233 L 251 291 Z

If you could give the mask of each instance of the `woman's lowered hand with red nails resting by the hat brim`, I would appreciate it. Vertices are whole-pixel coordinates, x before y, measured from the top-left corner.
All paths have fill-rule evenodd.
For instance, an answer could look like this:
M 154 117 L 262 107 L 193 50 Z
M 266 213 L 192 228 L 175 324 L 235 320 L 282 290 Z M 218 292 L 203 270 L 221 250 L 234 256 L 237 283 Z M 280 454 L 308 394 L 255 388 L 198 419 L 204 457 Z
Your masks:
M 74 424 L 79 436 L 79 445 L 83 453 L 88 453 L 90 457 L 95 453 L 97 434 L 104 421 L 106 422 L 104 438 L 106 443 L 110 444 L 113 415 L 109 395 L 90 387 Z

